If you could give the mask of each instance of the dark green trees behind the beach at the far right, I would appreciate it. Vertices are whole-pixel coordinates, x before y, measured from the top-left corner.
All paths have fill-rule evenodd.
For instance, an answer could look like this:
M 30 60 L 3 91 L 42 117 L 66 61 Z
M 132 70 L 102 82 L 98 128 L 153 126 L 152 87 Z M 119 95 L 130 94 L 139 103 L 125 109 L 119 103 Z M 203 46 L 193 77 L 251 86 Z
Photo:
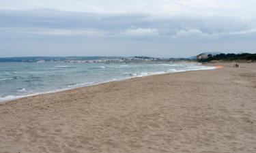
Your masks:
M 242 53 L 242 54 L 208 54 L 208 58 L 198 60 L 199 62 L 210 61 L 256 61 L 256 54 Z

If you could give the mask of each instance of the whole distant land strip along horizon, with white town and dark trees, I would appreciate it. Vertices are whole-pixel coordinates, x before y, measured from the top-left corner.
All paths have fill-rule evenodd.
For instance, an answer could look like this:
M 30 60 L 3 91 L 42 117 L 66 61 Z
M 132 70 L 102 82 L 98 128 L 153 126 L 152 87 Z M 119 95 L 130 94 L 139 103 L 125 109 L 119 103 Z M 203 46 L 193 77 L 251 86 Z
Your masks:
M 211 61 L 256 61 L 256 54 L 223 54 L 220 52 L 203 52 L 189 58 L 155 58 L 149 56 L 32 56 L 0 58 L 0 62 L 25 63 L 170 63 L 170 62 L 211 62 Z

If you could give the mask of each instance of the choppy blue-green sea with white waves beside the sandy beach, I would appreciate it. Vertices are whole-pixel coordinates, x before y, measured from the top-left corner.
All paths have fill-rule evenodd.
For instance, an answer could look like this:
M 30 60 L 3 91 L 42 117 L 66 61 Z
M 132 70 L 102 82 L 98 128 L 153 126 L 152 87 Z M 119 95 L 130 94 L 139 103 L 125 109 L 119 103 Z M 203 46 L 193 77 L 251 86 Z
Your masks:
M 145 75 L 214 68 L 197 63 L 0 63 L 0 101 Z

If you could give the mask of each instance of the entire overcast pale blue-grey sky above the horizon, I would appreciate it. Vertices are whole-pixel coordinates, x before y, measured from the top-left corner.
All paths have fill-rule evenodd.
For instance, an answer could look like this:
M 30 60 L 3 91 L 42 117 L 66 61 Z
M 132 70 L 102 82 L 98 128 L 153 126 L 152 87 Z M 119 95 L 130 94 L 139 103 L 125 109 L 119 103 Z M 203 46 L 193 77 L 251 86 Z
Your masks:
M 0 57 L 256 52 L 255 0 L 0 0 Z

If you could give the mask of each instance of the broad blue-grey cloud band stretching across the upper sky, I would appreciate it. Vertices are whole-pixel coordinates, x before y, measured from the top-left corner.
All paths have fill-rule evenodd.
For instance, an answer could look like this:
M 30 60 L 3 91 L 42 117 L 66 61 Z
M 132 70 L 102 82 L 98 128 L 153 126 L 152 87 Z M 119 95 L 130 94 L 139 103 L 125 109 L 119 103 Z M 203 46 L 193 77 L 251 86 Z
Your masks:
M 173 37 L 179 31 L 197 29 L 210 35 L 214 33 L 233 33 L 250 31 L 256 26 L 238 18 L 223 18 L 217 16 L 189 18 L 176 16 L 171 18 L 155 18 L 147 14 L 88 14 L 77 12 L 57 12 L 54 10 L 8 11 L 0 12 L 0 27 L 18 29 L 44 29 L 46 31 L 99 31 L 104 35 L 116 36 L 119 33 L 132 32 L 131 27 L 139 31 L 157 29 L 154 33 Z M 137 32 L 139 32 L 137 30 Z M 134 32 L 134 29 L 133 29 Z M 151 31 L 152 32 L 152 31 Z M 195 31 L 194 31 L 195 32 Z M 130 33 L 131 34 L 131 33 Z M 150 35 L 149 35 L 150 36 Z

